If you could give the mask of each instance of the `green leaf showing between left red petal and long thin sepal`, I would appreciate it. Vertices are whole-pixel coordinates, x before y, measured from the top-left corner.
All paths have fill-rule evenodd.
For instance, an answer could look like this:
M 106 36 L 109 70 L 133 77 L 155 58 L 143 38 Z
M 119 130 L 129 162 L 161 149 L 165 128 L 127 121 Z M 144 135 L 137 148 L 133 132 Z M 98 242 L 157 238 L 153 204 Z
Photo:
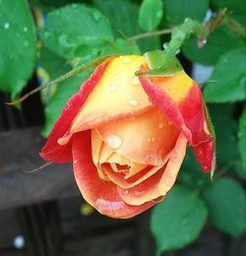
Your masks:
M 89 72 L 80 74 L 58 84 L 54 96 L 45 106 L 45 125 L 42 135 L 47 137 L 56 119 L 60 116 L 67 100 L 80 90 L 82 83 L 89 77 Z

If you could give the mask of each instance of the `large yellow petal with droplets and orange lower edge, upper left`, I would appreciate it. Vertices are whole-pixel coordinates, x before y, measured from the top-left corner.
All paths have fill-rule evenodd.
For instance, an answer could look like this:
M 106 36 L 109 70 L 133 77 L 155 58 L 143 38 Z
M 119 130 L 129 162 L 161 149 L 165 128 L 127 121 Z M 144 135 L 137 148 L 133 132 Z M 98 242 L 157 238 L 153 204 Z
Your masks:
M 66 144 L 73 133 L 140 115 L 153 108 L 139 79 L 135 76 L 135 72 L 143 63 L 143 56 L 114 58 L 94 88 L 87 104 L 80 109 L 68 133 L 59 140 L 59 143 Z

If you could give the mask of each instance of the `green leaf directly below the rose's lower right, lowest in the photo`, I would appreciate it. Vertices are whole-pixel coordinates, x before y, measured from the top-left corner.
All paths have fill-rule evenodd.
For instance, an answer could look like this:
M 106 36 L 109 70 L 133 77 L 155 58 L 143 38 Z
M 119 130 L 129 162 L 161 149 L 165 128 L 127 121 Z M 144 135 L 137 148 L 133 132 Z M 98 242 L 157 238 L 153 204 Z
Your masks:
M 163 202 L 154 207 L 151 228 L 157 251 L 183 248 L 202 231 L 207 208 L 198 194 L 177 185 Z

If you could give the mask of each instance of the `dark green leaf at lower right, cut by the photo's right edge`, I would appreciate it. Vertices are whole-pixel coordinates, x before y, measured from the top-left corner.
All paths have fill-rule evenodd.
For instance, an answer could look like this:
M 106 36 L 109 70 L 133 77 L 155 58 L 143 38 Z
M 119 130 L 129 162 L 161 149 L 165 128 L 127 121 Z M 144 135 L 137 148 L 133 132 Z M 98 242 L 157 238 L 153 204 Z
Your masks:
M 245 192 L 231 178 L 220 178 L 205 190 L 210 219 L 220 230 L 233 236 L 246 229 Z

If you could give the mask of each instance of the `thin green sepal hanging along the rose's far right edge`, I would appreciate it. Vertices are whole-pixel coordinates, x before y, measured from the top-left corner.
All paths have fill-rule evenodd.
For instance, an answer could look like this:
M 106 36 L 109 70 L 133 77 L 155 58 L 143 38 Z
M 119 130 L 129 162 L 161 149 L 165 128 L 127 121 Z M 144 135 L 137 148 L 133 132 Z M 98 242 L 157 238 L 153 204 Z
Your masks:
M 215 127 L 212 123 L 212 119 L 211 119 L 211 115 L 209 112 L 209 109 L 206 105 L 206 103 L 204 103 L 205 106 L 205 117 L 206 117 L 206 122 L 208 125 L 208 129 L 209 132 L 212 134 L 214 141 L 213 141 L 213 160 L 212 160 L 212 168 L 211 168 L 211 180 L 213 180 L 214 177 L 214 173 L 215 173 L 215 165 L 216 165 L 216 137 L 215 137 Z

